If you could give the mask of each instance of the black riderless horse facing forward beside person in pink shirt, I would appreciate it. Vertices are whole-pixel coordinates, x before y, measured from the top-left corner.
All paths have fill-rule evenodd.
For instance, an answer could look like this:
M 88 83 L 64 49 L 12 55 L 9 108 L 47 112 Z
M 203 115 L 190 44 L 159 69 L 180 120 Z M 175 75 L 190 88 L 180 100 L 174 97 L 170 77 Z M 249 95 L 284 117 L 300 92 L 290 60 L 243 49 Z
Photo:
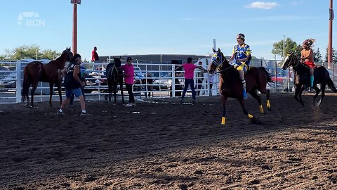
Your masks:
M 119 84 L 119 89 L 121 91 L 121 101 L 124 103 L 124 93 L 123 93 L 123 70 L 121 70 L 121 57 L 115 58 L 114 62 L 107 65 L 107 70 L 105 73 L 107 77 L 107 86 L 109 88 L 109 101 L 111 101 L 112 87 L 114 89 L 114 103 L 117 103 L 117 85 Z

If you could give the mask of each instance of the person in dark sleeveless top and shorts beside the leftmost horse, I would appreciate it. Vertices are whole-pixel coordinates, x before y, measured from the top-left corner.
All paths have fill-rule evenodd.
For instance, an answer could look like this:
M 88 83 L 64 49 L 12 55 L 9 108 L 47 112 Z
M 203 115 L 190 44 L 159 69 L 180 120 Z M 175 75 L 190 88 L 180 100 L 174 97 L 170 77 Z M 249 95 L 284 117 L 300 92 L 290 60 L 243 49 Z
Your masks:
M 77 53 L 74 55 L 73 62 L 71 62 L 67 68 L 62 70 L 62 72 L 67 72 L 65 75 L 65 101 L 62 101 L 61 107 L 57 114 L 63 114 L 63 109 L 70 101 L 71 96 L 74 94 L 79 98 L 79 103 L 81 104 L 81 115 L 91 115 L 86 113 L 86 103 L 84 101 L 84 96 L 81 92 L 81 87 L 84 87 L 84 82 L 81 82 L 81 70 L 79 65 L 81 64 L 81 56 Z

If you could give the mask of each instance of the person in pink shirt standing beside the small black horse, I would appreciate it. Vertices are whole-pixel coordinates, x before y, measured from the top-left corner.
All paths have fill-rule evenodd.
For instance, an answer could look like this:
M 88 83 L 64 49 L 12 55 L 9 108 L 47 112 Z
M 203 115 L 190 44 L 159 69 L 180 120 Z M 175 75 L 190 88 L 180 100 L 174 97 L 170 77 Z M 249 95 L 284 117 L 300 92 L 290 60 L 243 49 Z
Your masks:
M 126 89 L 128 90 L 128 104 L 126 104 L 126 107 L 132 107 L 136 106 L 135 103 L 135 96 L 133 96 L 133 75 L 135 73 L 133 64 L 132 64 L 132 58 L 128 57 L 126 58 L 125 65 L 121 66 L 121 70 L 124 71 L 124 81 Z

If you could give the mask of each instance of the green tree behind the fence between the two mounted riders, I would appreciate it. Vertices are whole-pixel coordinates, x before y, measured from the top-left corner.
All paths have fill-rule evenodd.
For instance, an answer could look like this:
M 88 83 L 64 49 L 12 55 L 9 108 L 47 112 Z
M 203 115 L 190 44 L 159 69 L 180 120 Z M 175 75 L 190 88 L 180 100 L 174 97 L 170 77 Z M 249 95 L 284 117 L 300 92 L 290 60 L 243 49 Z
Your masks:
M 283 57 L 283 39 L 280 42 L 275 42 L 272 44 L 273 49 L 272 49 L 272 54 L 279 55 L 282 58 Z M 302 50 L 302 46 L 296 44 L 296 42 L 293 42 L 293 40 L 290 37 L 286 38 L 285 44 L 284 44 L 284 49 L 285 49 L 285 56 L 288 53 L 291 53 L 292 51 L 295 51 L 296 56 L 300 56 L 300 51 Z

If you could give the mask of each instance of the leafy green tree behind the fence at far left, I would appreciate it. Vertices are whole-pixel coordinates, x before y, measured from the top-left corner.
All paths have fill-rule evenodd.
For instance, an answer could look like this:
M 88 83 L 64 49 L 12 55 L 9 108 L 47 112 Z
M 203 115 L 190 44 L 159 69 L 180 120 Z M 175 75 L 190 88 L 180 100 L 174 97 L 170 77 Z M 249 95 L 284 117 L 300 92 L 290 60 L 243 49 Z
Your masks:
M 30 45 L 30 46 L 18 46 L 13 51 L 6 49 L 5 58 L 11 60 L 20 60 L 24 58 L 32 58 L 32 59 L 50 59 L 54 60 L 60 56 L 60 53 L 53 51 L 51 49 L 46 49 L 41 51 L 40 47 L 37 45 Z

